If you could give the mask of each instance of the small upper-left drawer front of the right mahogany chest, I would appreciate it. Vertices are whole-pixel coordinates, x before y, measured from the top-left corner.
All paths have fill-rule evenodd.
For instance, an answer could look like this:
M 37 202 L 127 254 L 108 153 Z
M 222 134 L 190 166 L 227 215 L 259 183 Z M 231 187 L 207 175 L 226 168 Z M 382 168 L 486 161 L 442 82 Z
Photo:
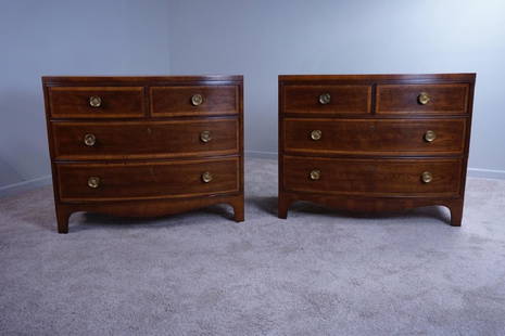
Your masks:
M 369 114 L 370 86 L 285 86 L 283 112 L 300 114 Z

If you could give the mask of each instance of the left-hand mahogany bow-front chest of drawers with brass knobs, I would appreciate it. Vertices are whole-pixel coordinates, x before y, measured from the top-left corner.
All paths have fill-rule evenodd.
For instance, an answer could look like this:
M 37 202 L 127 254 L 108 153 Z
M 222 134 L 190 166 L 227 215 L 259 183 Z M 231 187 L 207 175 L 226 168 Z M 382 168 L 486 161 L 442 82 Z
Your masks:
M 42 77 L 58 231 L 74 211 L 243 220 L 242 76 Z

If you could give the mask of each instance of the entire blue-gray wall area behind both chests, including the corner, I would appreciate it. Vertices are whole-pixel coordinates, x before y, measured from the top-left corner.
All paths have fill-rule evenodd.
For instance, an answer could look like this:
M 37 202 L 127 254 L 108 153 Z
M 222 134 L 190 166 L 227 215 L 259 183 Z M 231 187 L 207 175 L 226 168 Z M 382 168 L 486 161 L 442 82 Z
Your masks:
M 42 75 L 243 74 L 245 148 L 265 154 L 278 74 L 477 72 L 469 166 L 505 178 L 503 13 L 503 0 L 4 1 L 0 194 L 50 173 Z

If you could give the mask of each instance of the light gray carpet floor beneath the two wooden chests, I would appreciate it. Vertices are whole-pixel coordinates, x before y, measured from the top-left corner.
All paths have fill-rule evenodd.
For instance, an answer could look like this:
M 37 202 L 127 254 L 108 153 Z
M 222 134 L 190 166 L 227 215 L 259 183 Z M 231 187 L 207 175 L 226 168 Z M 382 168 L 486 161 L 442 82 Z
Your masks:
M 50 188 L 0 198 L 1 335 L 504 335 L 505 181 L 379 218 L 299 204 L 277 219 L 277 163 L 247 163 L 228 206 L 155 220 L 76 214 Z

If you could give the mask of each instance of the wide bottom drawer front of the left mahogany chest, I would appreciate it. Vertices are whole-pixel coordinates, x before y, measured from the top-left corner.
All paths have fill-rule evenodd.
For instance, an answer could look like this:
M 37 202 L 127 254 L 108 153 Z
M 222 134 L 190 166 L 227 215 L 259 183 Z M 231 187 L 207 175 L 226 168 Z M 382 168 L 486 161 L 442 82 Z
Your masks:
M 192 197 L 239 191 L 239 158 L 58 164 L 61 201 Z

